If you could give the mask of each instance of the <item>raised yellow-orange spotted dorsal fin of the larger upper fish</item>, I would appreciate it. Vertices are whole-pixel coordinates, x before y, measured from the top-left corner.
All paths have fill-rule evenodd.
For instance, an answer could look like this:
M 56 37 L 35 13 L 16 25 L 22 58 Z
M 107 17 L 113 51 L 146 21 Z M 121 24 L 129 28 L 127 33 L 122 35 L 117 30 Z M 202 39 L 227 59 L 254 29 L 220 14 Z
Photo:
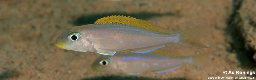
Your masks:
M 157 25 L 153 25 L 153 23 L 145 21 L 145 20 L 141 20 L 141 19 L 137 19 L 137 18 L 133 18 L 133 17 L 126 17 L 123 15 L 111 15 L 111 16 L 107 16 L 107 17 L 103 17 L 98 19 L 97 21 L 94 22 L 94 25 L 99 25 L 99 24 L 123 24 L 123 25 L 131 25 L 134 27 L 139 27 L 142 29 L 146 29 L 146 30 L 151 30 L 151 31 L 155 31 L 155 32 L 159 32 L 159 33 L 170 33 L 169 30 L 163 29 Z

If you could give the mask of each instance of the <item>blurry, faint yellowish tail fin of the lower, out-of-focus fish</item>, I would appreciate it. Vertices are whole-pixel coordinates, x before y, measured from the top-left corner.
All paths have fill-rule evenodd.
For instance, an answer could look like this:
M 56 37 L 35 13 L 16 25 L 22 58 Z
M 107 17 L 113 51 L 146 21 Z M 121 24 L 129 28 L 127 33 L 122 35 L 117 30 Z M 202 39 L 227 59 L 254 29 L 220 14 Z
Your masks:
M 203 53 L 192 55 L 192 63 L 197 66 L 210 65 L 213 60 L 212 53 Z

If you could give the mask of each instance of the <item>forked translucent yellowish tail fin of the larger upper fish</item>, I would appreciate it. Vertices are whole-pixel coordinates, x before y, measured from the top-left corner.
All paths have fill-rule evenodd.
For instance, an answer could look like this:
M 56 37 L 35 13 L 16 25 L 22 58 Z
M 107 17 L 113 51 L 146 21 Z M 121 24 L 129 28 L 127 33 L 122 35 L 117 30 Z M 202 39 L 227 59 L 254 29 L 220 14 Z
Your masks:
M 210 26 L 205 26 L 179 32 L 180 36 L 178 43 L 191 47 L 208 48 L 206 45 L 198 43 L 198 41 L 203 37 L 203 35 L 207 34 L 210 28 Z

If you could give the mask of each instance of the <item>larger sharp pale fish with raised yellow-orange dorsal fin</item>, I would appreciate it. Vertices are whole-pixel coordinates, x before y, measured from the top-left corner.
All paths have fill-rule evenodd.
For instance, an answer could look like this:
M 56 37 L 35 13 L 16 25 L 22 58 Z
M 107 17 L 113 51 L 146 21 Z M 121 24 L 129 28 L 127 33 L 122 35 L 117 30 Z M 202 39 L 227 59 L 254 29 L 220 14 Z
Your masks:
M 210 28 L 206 26 L 170 33 L 141 19 L 114 15 L 98 19 L 94 24 L 71 27 L 57 38 L 55 44 L 62 49 L 103 55 L 114 55 L 122 50 L 147 53 L 165 47 L 166 43 L 207 48 L 198 40 Z

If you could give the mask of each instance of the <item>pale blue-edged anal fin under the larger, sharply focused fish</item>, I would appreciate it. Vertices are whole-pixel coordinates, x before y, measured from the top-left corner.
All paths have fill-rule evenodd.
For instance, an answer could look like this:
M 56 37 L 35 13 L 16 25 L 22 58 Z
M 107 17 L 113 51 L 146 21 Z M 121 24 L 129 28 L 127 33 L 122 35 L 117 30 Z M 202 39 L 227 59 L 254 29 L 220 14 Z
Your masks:
M 142 47 L 142 48 L 137 48 L 137 49 L 131 49 L 130 51 L 131 52 L 134 52 L 134 53 L 148 53 L 150 51 L 154 51 L 154 50 L 157 50 L 161 47 L 165 47 L 165 45 L 160 45 L 160 46 L 149 46 L 149 47 Z

